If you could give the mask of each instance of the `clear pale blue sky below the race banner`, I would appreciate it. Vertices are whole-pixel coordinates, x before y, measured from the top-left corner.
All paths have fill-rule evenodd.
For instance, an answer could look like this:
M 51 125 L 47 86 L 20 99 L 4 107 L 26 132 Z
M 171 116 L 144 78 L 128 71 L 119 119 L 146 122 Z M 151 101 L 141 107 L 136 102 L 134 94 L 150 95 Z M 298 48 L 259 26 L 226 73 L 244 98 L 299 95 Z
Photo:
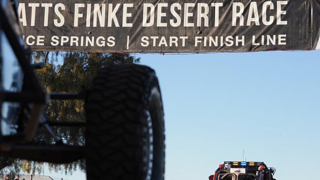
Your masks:
M 320 51 L 136 57 L 160 82 L 165 180 L 207 180 L 243 150 L 275 167 L 277 180 L 314 177 L 306 170 L 320 162 Z

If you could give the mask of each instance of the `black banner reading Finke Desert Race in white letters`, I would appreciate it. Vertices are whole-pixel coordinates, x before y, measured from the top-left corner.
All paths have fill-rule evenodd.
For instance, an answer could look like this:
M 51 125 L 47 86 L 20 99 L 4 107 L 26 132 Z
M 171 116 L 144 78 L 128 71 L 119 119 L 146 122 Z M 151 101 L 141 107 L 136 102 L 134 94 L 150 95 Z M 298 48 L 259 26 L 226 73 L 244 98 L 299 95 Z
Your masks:
M 32 50 L 320 49 L 320 0 L 19 0 Z

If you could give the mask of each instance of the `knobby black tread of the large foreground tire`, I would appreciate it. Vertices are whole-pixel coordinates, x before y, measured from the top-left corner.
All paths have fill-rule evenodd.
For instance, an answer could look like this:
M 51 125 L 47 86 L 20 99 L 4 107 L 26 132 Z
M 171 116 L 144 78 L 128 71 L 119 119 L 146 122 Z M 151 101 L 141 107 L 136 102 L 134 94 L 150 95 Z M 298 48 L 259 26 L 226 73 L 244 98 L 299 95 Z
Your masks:
M 142 180 L 141 108 L 148 106 L 150 86 L 160 91 L 147 66 L 109 66 L 98 72 L 85 107 L 88 180 Z

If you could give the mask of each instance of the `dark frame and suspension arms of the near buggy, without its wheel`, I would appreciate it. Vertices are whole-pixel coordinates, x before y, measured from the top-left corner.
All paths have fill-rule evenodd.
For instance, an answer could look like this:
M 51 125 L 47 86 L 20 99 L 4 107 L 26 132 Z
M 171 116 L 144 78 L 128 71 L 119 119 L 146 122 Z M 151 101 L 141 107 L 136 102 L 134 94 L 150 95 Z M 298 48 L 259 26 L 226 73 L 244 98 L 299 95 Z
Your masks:
M 17 34 L 17 28 L 19 28 L 18 23 L 16 19 L 11 17 L 12 12 L 8 4 L 6 4 L 7 7 L 3 6 L 3 4 L 5 4 L 5 2 L 1 0 L 0 20 L 2 29 L 24 73 L 24 86 L 27 86 L 25 86 L 21 92 L 0 91 L 0 101 L 33 104 L 33 106 L 31 106 L 26 129 L 14 135 L 0 135 L 0 155 L 53 163 L 68 163 L 84 158 L 84 146 L 64 145 L 63 141 L 55 135 L 50 126 L 80 127 L 84 126 L 85 123 L 50 122 L 44 120 L 42 115 L 50 100 L 84 99 L 86 91 L 83 90 L 78 94 L 47 94 L 43 91 L 34 73 L 34 69 L 42 67 L 43 64 L 31 64 L 31 53 L 25 49 L 23 42 L 21 42 L 21 37 Z M 19 118 L 19 120 L 21 120 L 21 118 Z M 40 126 L 43 126 L 55 139 L 55 145 L 39 145 L 32 141 Z

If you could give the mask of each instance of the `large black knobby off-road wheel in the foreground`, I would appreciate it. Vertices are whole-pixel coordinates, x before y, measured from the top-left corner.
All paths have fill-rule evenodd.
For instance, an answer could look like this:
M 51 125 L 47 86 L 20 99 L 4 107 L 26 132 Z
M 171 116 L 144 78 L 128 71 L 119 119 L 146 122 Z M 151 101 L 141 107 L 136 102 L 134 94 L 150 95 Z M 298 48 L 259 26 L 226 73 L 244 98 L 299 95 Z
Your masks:
M 86 98 L 87 180 L 163 180 L 164 120 L 155 71 L 103 68 Z

